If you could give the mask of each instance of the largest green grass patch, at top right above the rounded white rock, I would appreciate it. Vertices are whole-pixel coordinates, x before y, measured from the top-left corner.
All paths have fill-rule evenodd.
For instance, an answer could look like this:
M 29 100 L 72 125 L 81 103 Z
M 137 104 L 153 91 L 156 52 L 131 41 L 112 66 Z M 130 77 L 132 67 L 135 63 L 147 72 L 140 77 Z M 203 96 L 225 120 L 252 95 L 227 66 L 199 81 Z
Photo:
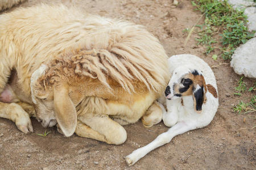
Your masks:
M 224 59 L 231 59 L 234 50 L 240 44 L 253 38 L 255 32 L 249 32 L 246 27 L 247 16 L 243 10 L 234 10 L 227 0 L 195 0 L 192 5 L 196 6 L 205 15 L 203 25 L 200 27 L 198 44 L 206 45 L 205 54 L 209 54 L 221 43 L 221 56 Z M 214 37 L 217 36 L 217 39 Z

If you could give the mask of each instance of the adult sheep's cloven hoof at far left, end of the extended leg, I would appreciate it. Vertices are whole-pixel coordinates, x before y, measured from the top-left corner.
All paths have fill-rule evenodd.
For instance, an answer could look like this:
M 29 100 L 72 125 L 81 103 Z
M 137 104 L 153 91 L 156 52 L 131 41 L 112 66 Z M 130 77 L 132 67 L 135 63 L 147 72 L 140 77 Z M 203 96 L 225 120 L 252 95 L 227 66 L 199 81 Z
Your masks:
M 20 117 L 15 121 L 17 128 L 23 133 L 33 132 L 33 126 L 31 124 L 30 117 Z

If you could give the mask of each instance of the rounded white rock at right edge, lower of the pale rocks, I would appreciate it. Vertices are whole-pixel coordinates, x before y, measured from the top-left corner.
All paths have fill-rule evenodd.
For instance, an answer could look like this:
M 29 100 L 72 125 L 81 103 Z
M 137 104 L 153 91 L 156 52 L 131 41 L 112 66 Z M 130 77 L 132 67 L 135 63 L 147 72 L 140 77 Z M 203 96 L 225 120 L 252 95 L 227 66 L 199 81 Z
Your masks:
M 235 50 L 230 66 L 237 74 L 256 78 L 256 38 L 250 39 Z

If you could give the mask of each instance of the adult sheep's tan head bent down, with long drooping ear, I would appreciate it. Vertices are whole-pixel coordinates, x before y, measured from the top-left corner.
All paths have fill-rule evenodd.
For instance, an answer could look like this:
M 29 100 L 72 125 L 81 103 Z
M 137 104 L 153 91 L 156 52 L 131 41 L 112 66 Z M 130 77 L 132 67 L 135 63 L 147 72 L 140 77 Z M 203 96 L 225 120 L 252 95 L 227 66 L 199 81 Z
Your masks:
M 76 105 L 82 100 L 82 95 L 67 81 L 50 74 L 56 74 L 51 65 L 42 65 L 31 76 L 36 118 L 44 128 L 57 123 L 64 135 L 69 137 L 76 129 Z

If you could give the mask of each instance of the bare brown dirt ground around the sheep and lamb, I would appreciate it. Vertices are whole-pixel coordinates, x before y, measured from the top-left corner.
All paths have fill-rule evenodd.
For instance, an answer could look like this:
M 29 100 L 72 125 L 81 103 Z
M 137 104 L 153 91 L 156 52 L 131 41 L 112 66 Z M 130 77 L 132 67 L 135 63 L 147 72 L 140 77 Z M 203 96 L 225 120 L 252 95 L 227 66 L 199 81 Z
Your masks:
M 40 2 L 28 0 L 20 6 L 34 6 Z M 60 2 L 67 6 L 72 3 L 56 1 Z M 187 33 L 183 33 L 183 29 L 191 28 L 201 15 L 194 10 L 191 1 L 179 0 L 178 6 L 172 6 L 172 0 L 77 0 L 73 4 L 92 14 L 146 26 L 158 37 L 168 56 L 195 54 L 210 66 L 228 62 L 205 56 L 204 47 L 195 41 L 195 33 L 184 46 Z M 213 71 L 220 107 L 211 124 L 175 137 L 131 167 L 126 165 L 123 156 L 166 131 L 168 128 L 163 122 L 148 129 L 141 121 L 127 125 L 127 141 L 114 146 L 77 135 L 66 138 L 56 128 L 48 128 L 51 133 L 42 137 L 37 133 L 42 134 L 46 129 L 35 118 L 32 118 L 34 133 L 23 134 L 13 122 L 0 118 L 0 169 L 255 169 L 256 135 L 255 129 L 251 129 L 255 126 L 255 113 L 232 111 L 232 105 L 240 100 L 249 101 L 251 93 L 245 92 L 242 97 L 233 95 L 240 76 L 229 65 L 218 66 Z M 247 87 L 253 85 L 251 79 L 245 79 L 245 82 Z

